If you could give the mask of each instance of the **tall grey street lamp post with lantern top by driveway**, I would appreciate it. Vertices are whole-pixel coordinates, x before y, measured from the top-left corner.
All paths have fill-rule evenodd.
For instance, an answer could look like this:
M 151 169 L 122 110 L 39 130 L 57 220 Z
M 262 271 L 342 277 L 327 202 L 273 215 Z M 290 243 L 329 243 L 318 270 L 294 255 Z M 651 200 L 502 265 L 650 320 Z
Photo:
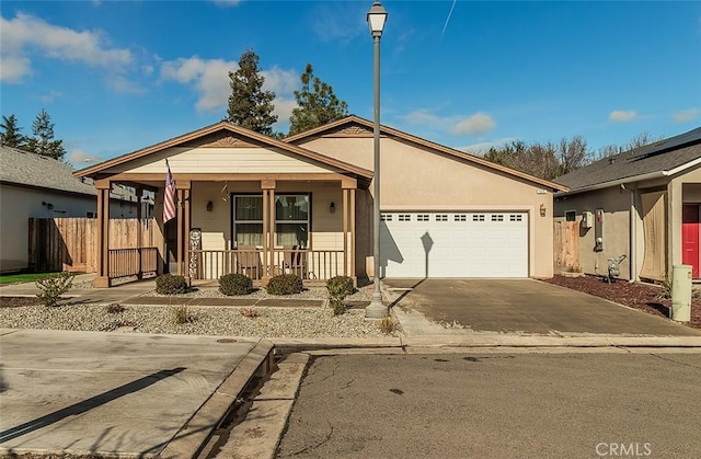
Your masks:
M 372 34 L 375 51 L 375 179 L 374 179 L 374 206 L 372 206 L 372 261 L 375 280 L 372 286 L 372 299 L 365 308 L 365 317 L 368 319 L 381 319 L 387 315 L 387 307 L 382 305 L 380 291 L 380 37 L 387 21 L 387 11 L 379 1 L 372 3 L 367 16 L 370 33 Z

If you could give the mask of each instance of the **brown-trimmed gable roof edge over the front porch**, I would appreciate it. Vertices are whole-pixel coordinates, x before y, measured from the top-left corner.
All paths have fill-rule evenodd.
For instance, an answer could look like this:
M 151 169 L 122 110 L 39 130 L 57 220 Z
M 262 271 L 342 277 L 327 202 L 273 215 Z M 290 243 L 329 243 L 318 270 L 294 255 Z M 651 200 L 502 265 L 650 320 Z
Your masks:
M 284 151 L 291 153 L 292 156 L 301 157 L 304 159 L 309 159 L 309 160 L 325 164 L 331 168 L 340 169 L 345 173 L 358 175 L 366 179 L 371 179 L 374 175 L 372 171 L 368 171 L 367 169 L 358 168 L 357 165 L 353 165 L 347 162 L 340 161 L 335 158 L 326 157 L 315 151 L 307 150 L 306 148 L 302 148 L 302 147 L 283 142 L 280 140 L 274 139 L 263 134 L 254 133 L 253 130 L 249 130 L 241 126 L 233 125 L 229 122 L 220 122 L 207 127 L 203 127 L 202 129 L 194 130 L 192 133 L 183 134 L 182 136 L 177 136 L 172 139 L 152 145 L 150 147 L 146 147 L 140 150 L 133 151 L 130 153 L 122 154 L 117 158 L 113 158 L 111 160 L 103 161 L 99 164 L 82 169 L 80 171 L 74 172 L 73 174 L 79 177 L 80 176 L 94 177 L 97 173 L 105 171 L 110 168 L 114 168 L 115 165 L 124 164 L 135 159 L 142 158 L 159 151 L 163 151 L 171 147 L 177 147 L 180 145 L 203 138 L 205 136 L 209 136 L 211 134 L 221 133 L 221 131 L 232 133 L 241 137 L 248 138 L 250 140 L 253 140 L 257 144 L 263 144 L 265 146 L 279 148 Z

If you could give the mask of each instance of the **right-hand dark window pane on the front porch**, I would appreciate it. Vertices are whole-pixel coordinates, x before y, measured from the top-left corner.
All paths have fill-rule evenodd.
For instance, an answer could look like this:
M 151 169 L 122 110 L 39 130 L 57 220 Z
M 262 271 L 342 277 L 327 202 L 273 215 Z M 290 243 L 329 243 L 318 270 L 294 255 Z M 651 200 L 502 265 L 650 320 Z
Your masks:
M 275 196 L 275 244 L 309 246 L 309 195 Z

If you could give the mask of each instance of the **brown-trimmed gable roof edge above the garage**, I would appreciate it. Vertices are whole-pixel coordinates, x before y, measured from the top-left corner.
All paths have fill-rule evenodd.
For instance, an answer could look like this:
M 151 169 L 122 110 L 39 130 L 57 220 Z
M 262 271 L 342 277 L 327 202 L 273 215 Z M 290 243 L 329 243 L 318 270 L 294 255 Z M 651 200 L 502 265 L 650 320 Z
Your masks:
M 288 142 L 288 144 L 299 144 L 302 140 L 307 140 L 307 139 L 311 139 L 313 137 L 321 137 L 324 134 L 331 134 L 331 131 L 335 131 L 338 130 L 341 127 L 345 126 L 345 125 L 361 125 L 365 126 L 369 129 L 374 129 L 375 124 L 368 119 L 361 118 L 357 115 L 349 115 L 346 116 L 345 118 L 341 118 L 341 119 L 336 119 L 335 122 L 331 122 L 326 125 L 323 126 L 319 126 L 317 128 L 313 129 L 309 129 L 307 131 L 297 134 L 295 136 L 290 136 L 285 138 L 283 141 L 284 142 Z M 475 154 L 471 154 L 471 153 L 467 153 L 464 151 L 460 151 L 460 150 L 456 150 L 453 148 L 450 147 L 446 147 L 445 145 L 440 145 L 440 144 L 436 144 L 430 140 L 426 140 L 423 139 L 421 137 L 416 137 L 413 136 L 411 134 L 406 134 L 404 131 L 401 131 L 399 129 L 394 129 L 392 127 L 388 127 L 388 126 L 383 126 L 380 125 L 380 134 L 384 135 L 384 136 L 389 136 L 389 137 L 397 137 L 400 139 L 403 139 L 405 141 L 409 141 L 411 144 L 414 145 L 418 145 L 425 148 L 429 148 L 432 150 L 441 152 L 444 154 L 447 154 L 449 157 L 453 157 L 456 159 L 460 159 L 463 161 L 468 161 L 468 162 L 472 162 L 482 167 L 485 167 L 487 169 L 493 169 L 495 171 L 499 171 L 499 172 L 504 172 L 508 175 L 513 175 L 515 177 L 519 177 L 519 179 L 524 179 L 527 180 L 529 182 L 536 183 L 538 185 L 544 186 L 547 188 L 553 190 L 553 191 L 566 191 L 567 187 L 560 184 L 560 183 L 555 183 L 555 182 L 551 182 L 549 180 L 544 180 L 544 179 L 540 179 L 530 174 L 527 174 L 525 172 L 520 172 L 517 171 L 515 169 L 510 169 L 507 168 L 505 165 L 502 164 L 497 164 L 495 162 L 492 162 L 490 160 L 486 160 L 484 158 L 478 157 Z

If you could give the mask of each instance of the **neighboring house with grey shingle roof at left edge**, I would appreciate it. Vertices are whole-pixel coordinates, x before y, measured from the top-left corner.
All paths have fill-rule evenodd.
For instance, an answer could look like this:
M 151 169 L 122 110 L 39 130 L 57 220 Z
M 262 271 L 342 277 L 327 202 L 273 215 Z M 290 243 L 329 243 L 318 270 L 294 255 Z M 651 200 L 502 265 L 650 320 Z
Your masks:
M 72 172 L 55 159 L 0 146 L 0 272 L 27 268 L 30 218 L 96 216 L 94 184 Z M 112 199 L 113 218 L 136 217 L 135 196 Z

